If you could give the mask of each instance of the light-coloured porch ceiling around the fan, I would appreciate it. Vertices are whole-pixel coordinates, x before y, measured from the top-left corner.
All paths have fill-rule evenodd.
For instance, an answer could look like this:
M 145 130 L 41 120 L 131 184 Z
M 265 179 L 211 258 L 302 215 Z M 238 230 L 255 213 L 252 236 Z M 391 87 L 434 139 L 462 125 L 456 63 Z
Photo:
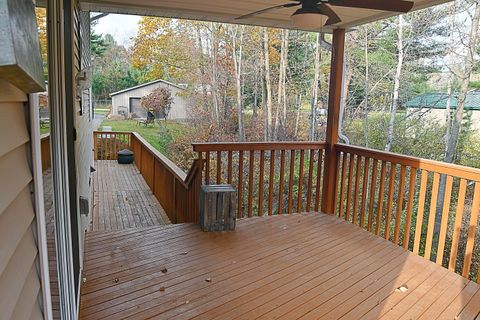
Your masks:
M 388 0 L 383 0 L 388 1 Z M 183 18 L 201 21 L 238 23 L 235 17 L 269 6 L 287 3 L 288 0 L 80 0 L 86 11 Z M 431 7 L 448 0 L 414 0 L 413 10 Z M 242 24 L 295 29 L 290 15 L 296 8 L 280 9 L 242 20 Z M 378 10 L 336 7 L 342 22 L 324 27 L 323 32 L 353 27 L 384 19 L 395 13 Z

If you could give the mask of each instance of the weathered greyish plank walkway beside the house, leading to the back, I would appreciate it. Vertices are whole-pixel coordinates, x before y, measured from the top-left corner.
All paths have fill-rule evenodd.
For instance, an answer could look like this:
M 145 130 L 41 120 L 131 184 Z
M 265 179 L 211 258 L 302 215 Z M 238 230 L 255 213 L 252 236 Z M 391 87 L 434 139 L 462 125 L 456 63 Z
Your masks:
M 133 164 L 95 162 L 92 230 L 122 230 L 169 224 L 165 211 Z

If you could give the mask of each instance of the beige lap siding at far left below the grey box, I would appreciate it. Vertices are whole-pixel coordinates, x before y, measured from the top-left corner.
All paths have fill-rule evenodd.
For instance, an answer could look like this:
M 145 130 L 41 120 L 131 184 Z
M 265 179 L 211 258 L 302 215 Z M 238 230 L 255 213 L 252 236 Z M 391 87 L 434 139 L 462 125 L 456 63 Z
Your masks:
M 43 319 L 27 101 L 0 79 L 0 319 Z

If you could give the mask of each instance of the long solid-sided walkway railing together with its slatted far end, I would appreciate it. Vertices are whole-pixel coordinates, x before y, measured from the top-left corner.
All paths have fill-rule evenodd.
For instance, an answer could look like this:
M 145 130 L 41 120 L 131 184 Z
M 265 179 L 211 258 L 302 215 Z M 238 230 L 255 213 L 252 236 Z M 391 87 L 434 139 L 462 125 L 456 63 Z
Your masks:
M 134 152 L 134 161 L 146 183 L 173 223 L 196 222 L 201 161 L 188 174 L 136 132 L 94 132 L 95 160 L 115 160 L 121 149 Z

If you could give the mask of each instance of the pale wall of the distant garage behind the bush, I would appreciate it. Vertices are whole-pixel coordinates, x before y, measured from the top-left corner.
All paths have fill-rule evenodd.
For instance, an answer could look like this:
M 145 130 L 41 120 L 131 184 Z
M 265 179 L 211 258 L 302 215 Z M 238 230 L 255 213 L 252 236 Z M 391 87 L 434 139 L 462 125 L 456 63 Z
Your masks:
M 112 114 L 118 115 L 120 114 L 119 112 L 121 111 L 125 112 L 126 114 L 129 114 L 130 113 L 130 110 L 129 110 L 130 97 L 142 98 L 148 95 L 149 93 L 151 93 L 154 89 L 159 87 L 168 88 L 172 93 L 173 104 L 172 104 L 172 109 L 170 110 L 170 114 L 168 115 L 168 119 L 171 119 L 171 120 L 186 119 L 187 118 L 187 101 L 184 97 L 181 96 L 184 90 L 164 82 L 152 83 L 150 85 L 143 86 L 138 89 L 133 89 L 133 90 L 112 96 Z

